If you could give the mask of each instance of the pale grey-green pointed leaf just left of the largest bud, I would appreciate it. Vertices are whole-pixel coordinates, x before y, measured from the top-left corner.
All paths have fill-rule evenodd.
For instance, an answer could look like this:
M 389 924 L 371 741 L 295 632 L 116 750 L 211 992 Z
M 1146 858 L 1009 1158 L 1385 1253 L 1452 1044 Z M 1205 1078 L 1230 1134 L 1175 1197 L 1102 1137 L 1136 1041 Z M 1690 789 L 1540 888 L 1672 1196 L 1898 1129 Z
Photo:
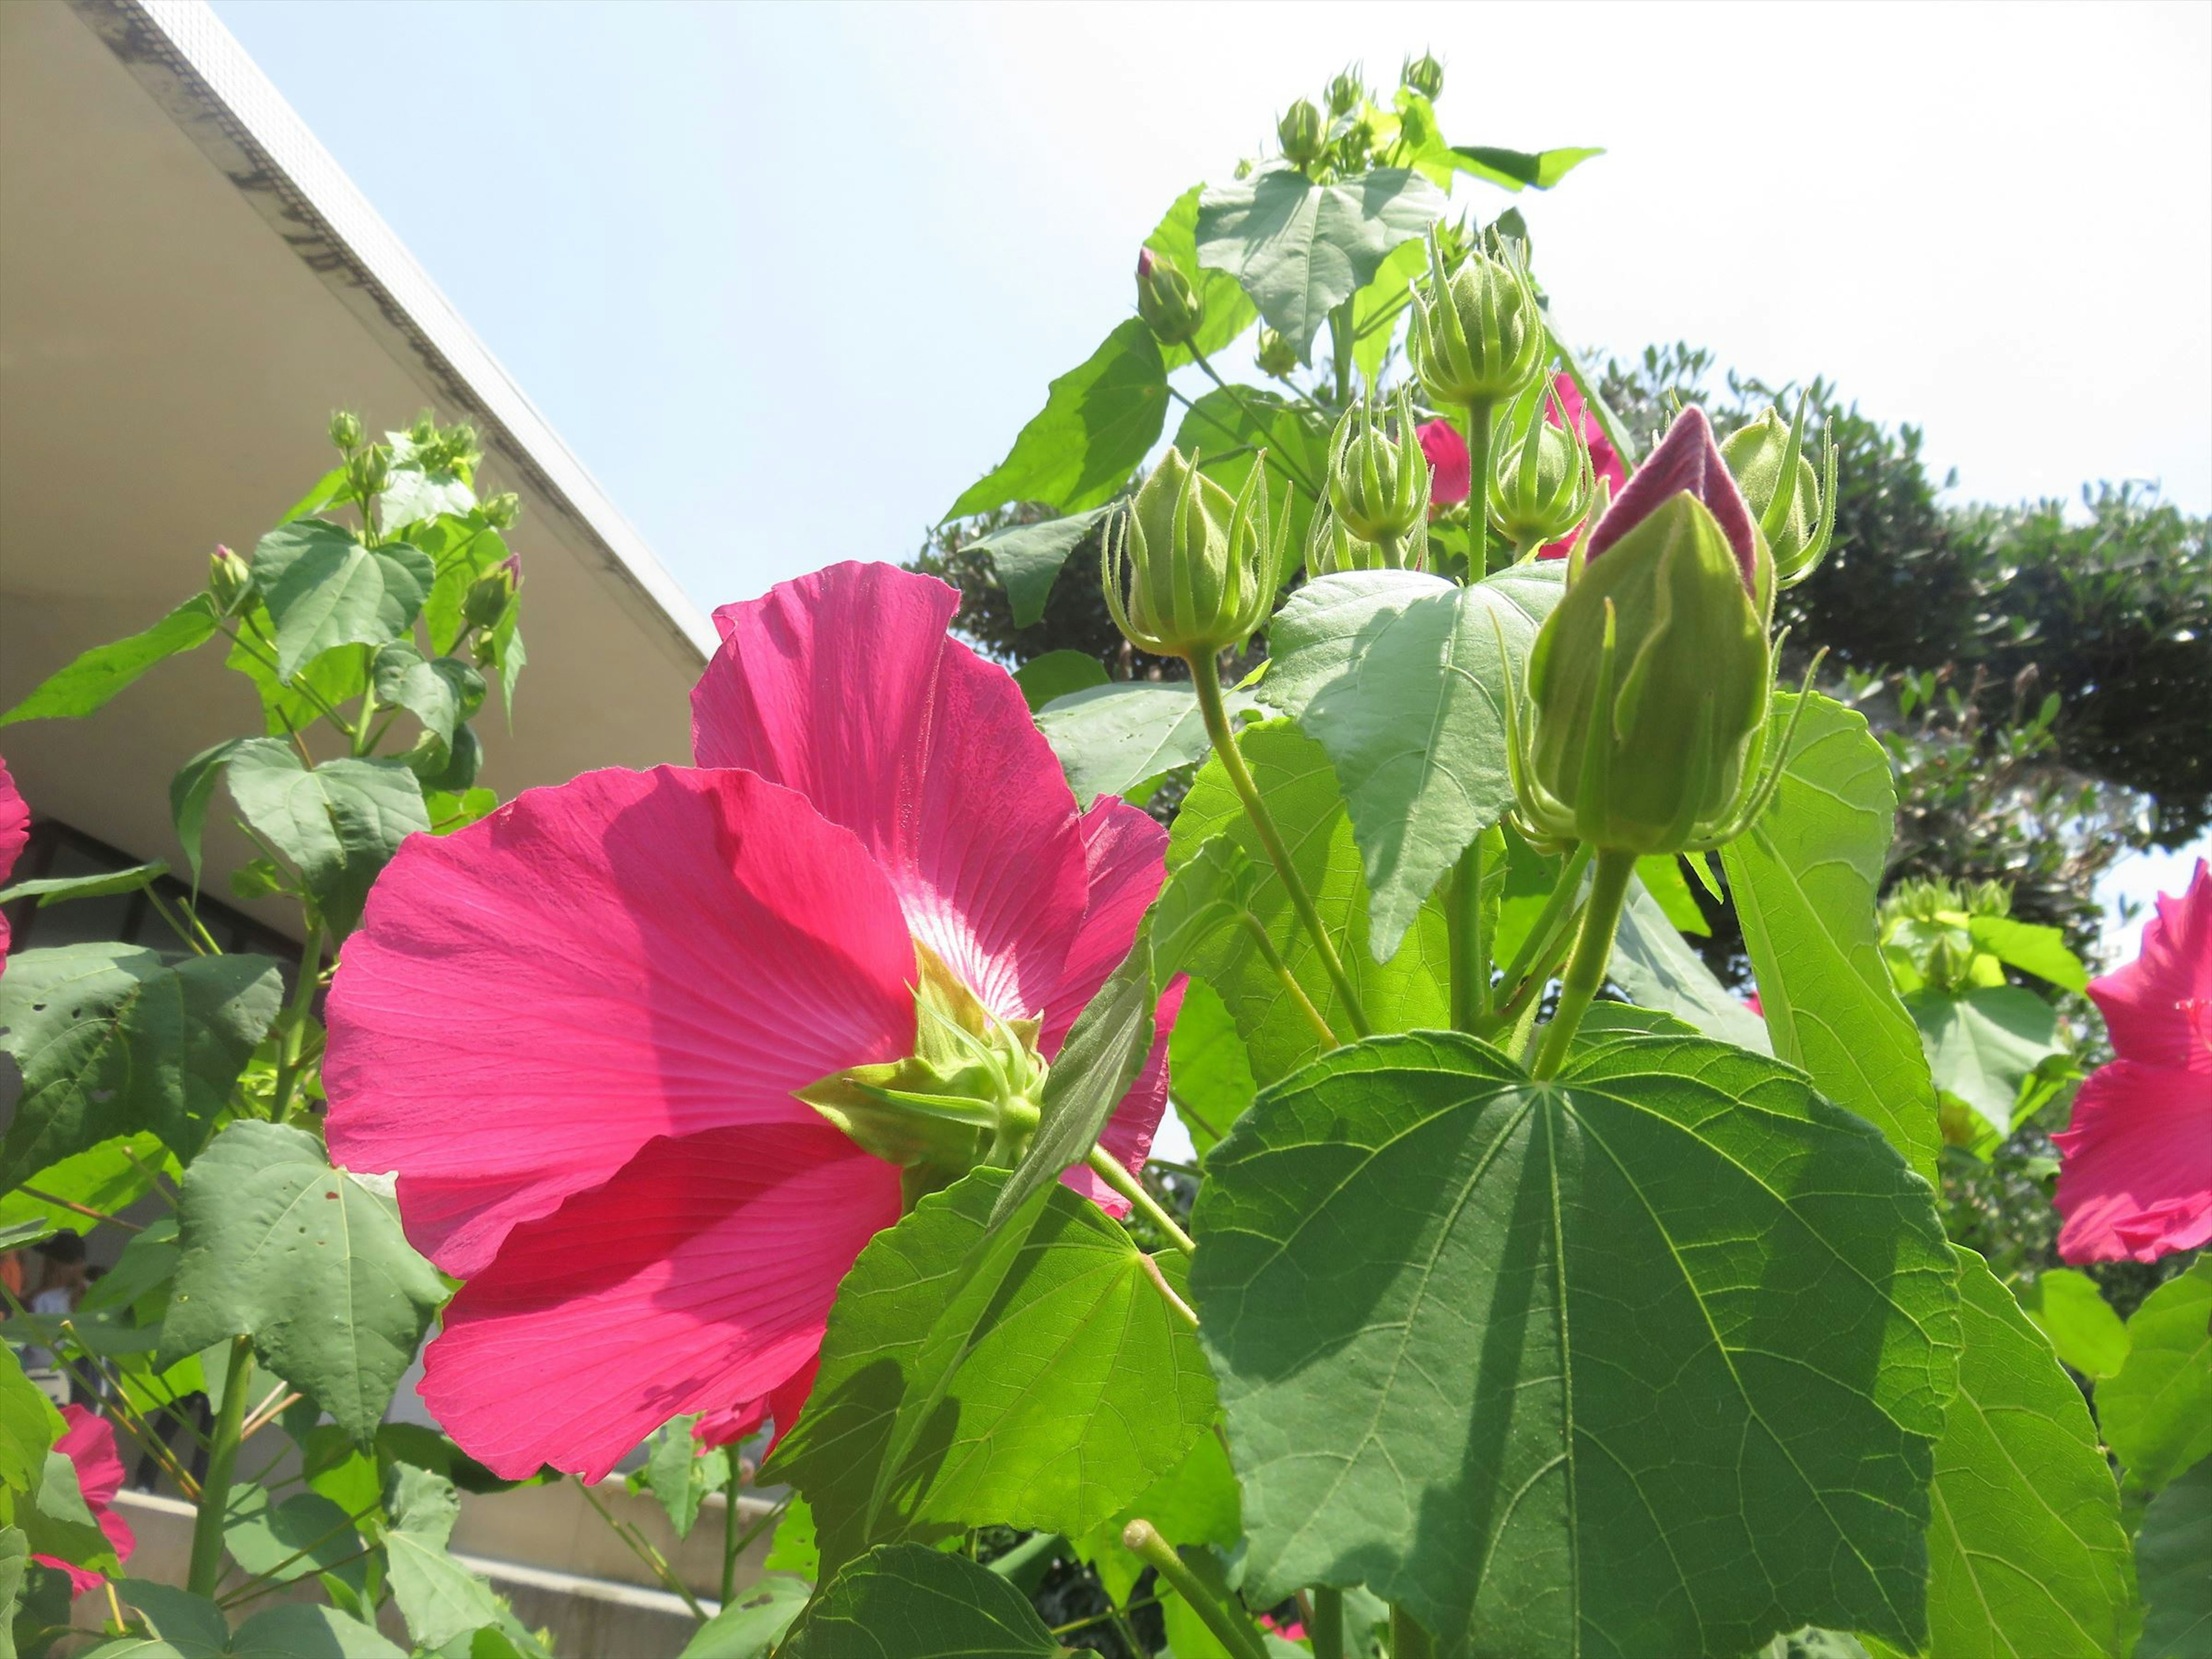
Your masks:
M 1389 960 L 1422 900 L 1513 805 L 1506 681 L 1559 602 L 1562 566 L 1458 586 L 1420 571 L 1307 582 L 1274 619 L 1259 695 L 1336 768 L 1367 865 L 1369 949 Z

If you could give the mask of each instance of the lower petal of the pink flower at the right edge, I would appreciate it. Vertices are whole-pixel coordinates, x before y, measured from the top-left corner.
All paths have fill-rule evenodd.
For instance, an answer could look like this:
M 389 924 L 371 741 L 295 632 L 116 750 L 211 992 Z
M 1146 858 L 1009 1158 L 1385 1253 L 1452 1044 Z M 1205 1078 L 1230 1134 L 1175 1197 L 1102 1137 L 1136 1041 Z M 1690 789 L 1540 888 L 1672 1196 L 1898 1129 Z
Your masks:
M 2066 1261 L 2157 1261 L 2212 1241 L 2212 1075 L 2115 1060 L 2051 1139 Z

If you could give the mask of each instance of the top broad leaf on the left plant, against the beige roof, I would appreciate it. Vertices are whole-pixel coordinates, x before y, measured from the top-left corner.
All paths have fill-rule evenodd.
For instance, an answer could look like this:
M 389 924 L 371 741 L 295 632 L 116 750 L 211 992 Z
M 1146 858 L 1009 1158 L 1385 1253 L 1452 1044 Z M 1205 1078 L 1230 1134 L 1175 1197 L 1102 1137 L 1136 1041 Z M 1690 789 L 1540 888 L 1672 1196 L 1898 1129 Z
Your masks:
M 290 679 L 334 646 L 398 639 L 438 571 L 407 542 L 363 546 L 319 518 L 279 524 L 254 544 L 254 584 L 276 624 L 276 675 Z

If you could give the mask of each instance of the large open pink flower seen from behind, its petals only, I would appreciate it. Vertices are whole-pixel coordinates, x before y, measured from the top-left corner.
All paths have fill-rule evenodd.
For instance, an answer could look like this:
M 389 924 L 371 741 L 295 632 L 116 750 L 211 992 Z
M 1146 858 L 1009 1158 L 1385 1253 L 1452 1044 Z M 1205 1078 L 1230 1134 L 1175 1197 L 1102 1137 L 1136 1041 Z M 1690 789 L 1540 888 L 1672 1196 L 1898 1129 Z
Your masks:
M 838 564 L 714 615 L 690 768 L 588 772 L 369 894 L 330 998 L 330 1150 L 469 1283 L 422 1398 L 502 1475 L 602 1478 L 672 1416 L 787 1427 L 900 1175 L 794 1088 L 916 1046 L 916 942 L 1060 1051 L 1166 834 L 1077 812 L 958 595 Z M 1141 1164 L 1166 1035 L 1104 1144 Z M 1119 1201 L 1088 1172 L 1068 1183 Z

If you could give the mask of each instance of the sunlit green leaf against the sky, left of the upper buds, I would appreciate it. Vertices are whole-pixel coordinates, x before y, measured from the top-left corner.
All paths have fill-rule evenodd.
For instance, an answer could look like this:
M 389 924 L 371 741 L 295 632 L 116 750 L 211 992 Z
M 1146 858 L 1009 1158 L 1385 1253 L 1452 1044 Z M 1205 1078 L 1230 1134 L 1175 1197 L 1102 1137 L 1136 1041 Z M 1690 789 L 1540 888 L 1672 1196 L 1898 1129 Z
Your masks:
M 1013 449 L 947 509 L 989 513 L 1006 502 L 1044 502 L 1062 513 L 1104 507 L 1159 442 L 1168 418 L 1168 369 L 1139 319 L 1121 323 L 1091 358 L 1044 396 Z

